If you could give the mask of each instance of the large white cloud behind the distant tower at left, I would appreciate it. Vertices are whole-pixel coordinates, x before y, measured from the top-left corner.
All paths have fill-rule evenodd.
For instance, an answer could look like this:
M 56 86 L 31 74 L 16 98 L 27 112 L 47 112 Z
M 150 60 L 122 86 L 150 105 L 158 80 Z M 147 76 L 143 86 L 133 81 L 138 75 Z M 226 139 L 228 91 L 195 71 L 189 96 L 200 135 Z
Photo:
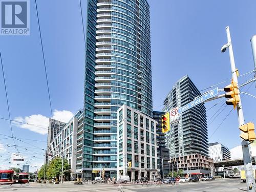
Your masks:
M 53 112 L 53 119 L 68 122 L 74 114 L 70 111 L 58 111 L 54 110 Z M 46 135 L 48 133 L 48 125 L 49 125 L 49 118 L 43 115 L 30 115 L 26 117 L 16 117 L 14 118 L 15 121 L 23 122 L 23 123 L 16 123 L 17 126 L 30 130 L 35 133 L 39 133 L 42 135 Z

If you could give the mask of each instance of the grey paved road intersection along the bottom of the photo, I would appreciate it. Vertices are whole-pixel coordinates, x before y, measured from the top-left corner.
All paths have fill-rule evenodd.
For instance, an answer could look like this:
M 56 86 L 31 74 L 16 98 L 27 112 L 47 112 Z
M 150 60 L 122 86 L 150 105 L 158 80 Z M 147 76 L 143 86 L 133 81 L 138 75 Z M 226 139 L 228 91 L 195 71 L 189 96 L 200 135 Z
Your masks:
M 38 184 L 38 183 L 27 183 L 27 184 L 13 184 L 13 185 L 0 185 L 0 192 L 6 191 L 20 191 L 20 192 L 115 192 L 118 191 L 118 185 L 111 184 L 86 184 L 86 185 L 74 185 L 73 183 L 66 182 L 64 184 Z M 246 191 L 246 183 L 242 183 L 240 179 L 221 179 L 215 181 L 202 181 L 202 182 L 189 182 L 180 183 L 178 185 L 161 185 L 161 186 L 142 186 L 142 185 L 128 185 L 123 184 L 124 192 L 236 192 Z

